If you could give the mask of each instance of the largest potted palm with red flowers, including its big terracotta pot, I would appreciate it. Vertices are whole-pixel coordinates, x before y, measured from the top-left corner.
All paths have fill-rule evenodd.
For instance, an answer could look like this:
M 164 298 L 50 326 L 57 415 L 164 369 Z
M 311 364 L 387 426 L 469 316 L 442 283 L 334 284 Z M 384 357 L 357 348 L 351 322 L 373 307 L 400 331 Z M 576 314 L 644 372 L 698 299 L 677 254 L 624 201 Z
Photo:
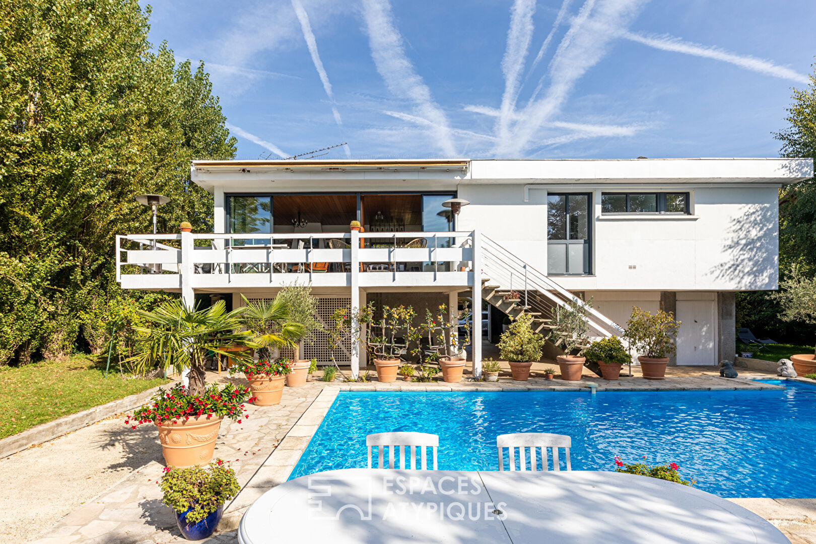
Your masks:
M 197 310 L 171 300 L 152 312 L 137 312 L 147 325 L 133 327 L 138 352 L 128 361 L 139 374 L 168 367 L 178 374 L 186 373 L 188 386 L 159 391 L 148 404 L 135 410 L 134 419 L 156 425 L 168 465 L 191 467 L 209 462 L 221 420 L 242 417 L 242 403 L 250 390 L 233 384 L 207 387 L 204 365 L 209 353 L 225 356 L 229 346 L 255 347 L 251 334 L 239 331 L 244 308 L 227 312 L 220 300 L 212 307 Z M 249 359 L 246 352 L 234 352 L 232 356 L 239 361 Z

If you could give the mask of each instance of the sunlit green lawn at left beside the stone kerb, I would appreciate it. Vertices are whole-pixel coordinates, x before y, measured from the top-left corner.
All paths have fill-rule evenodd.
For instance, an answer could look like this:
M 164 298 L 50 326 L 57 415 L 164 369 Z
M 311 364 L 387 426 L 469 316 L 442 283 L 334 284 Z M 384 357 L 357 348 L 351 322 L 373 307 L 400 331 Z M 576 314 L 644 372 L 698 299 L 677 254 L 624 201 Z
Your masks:
M 0 368 L 0 438 L 170 381 L 119 378 L 113 361 L 103 378 L 106 362 L 107 356 L 79 355 Z

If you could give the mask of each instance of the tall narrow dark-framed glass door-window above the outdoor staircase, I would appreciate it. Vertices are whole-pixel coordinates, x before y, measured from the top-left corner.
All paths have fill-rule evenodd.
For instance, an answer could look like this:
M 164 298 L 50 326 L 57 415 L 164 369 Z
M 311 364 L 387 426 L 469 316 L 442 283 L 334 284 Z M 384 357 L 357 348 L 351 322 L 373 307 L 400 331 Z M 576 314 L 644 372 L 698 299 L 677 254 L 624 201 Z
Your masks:
M 547 273 L 589 274 L 589 194 L 547 195 Z

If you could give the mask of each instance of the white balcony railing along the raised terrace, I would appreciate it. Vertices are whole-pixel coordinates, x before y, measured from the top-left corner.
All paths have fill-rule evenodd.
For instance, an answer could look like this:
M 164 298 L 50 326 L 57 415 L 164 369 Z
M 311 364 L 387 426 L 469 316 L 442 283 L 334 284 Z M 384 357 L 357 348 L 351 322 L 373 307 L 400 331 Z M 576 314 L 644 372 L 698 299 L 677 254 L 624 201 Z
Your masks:
M 471 245 L 472 232 L 129 234 L 116 237 L 116 270 L 118 281 L 156 289 L 181 287 L 185 273 L 193 287 L 278 284 L 293 274 L 316 285 L 350 286 L 353 275 L 361 286 L 469 285 Z

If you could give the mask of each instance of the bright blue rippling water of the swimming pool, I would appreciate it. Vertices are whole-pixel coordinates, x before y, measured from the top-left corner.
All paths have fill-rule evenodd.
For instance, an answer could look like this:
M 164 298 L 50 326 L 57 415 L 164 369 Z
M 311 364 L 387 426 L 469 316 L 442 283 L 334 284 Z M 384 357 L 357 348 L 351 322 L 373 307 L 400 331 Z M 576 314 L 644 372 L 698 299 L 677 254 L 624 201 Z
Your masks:
M 783 383 L 769 380 L 768 383 Z M 784 383 L 783 383 L 784 384 Z M 439 468 L 496 470 L 496 436 L 572 437 L 574 470 L 676 462 L 721 497 L 816 497 L 816 387 L 778 391 L 341 392 L 290 478 L 366 467 L 366 435 L 439 435 Z

